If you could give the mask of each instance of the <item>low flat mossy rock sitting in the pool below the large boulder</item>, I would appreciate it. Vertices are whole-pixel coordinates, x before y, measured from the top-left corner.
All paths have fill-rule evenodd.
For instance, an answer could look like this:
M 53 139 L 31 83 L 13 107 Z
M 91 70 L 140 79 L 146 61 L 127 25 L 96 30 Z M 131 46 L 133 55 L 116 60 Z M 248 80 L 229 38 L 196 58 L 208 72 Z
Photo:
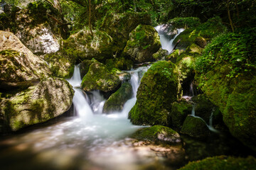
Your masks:
M 178 135 L 178 132 L 162 125 L 154 125 L 151 128 L 142 128 L 137 130 L 131 137 L 136 140 L 150 142 L 181 142 L 181 137 Z

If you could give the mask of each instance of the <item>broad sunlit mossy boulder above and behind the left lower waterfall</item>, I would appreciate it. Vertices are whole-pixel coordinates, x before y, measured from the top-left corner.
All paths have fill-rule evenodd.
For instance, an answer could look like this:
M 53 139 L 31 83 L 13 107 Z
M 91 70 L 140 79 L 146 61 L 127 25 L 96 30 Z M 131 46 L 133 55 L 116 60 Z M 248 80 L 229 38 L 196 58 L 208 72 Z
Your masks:
M 102 62 L 114 55 L 112 38 L 104 31 L 94 30 L 93 35 L 89 28 L 80 30 L 70 35 L 68 40 L 63 40 L 62 50 L 70 56 L 80 60 L 96 60 Z

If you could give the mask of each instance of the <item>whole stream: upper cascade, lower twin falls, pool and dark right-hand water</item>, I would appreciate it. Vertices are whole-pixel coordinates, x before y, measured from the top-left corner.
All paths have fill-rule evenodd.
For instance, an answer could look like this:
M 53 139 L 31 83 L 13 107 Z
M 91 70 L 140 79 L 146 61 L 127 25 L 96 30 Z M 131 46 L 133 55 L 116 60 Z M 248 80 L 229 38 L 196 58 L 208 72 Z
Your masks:
M 156 30 L 163 48 L 171 52 L 174 39 L 169 40 L 166 35 L 160 34 L 161 26 Z M 182 31 L 178 29 L 178 33 Z M 73 77 L 68 79 L 75 90 L 73 116 L 60 116 L 47 123 L 0 136 L 1 169 L 172 170 L 189 160 L 247 152 L 240 147 L 240 142 L 221 133 L 213 134 L 206 141 L 182 136 L 183 146 L 180 149 L 186 151 L 186 160 L 178 166 L 168 164 L 170 158 L 167 160 L 166 155 L 159 155 L 149 147 L 134 147 L 129 135 L 142 126 L 132 125 L 127 116 L 137 100 L 139 81 L 147 69 L 149 67 L 139 67 L 129 71 L 133 98 L 124 104 L 121 112 L 107 115 L 102 113 L 105 98 L 99 91 L 87 95 L 80 89 L 80 70 L 78 65 L 75 66 Z

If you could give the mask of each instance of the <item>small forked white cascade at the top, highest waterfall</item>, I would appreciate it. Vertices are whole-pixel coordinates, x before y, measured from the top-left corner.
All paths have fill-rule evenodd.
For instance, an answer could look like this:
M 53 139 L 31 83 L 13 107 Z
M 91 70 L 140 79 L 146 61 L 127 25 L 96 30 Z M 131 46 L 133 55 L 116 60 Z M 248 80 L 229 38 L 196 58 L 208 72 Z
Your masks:
M 156 26 L 156 31 L 159 33 L 160 41 L 162 49 L 167 50 L 169 53 L 171 53 L 174 50 L 174 40 L 175 38 L 185 30 L 184 28 L 178 28 L 178 33 L 174 36 L 173 39 L 169 39 L 168 35 L 164 32 L 164 29 L 166 29 L 166 25 Z

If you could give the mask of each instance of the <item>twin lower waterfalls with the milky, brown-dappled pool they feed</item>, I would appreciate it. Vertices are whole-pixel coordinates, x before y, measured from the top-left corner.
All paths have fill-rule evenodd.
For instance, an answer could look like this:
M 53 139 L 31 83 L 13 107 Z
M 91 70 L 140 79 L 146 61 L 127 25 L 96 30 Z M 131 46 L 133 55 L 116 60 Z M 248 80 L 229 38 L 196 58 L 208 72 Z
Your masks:
M 73 85 L 75 115 L 33 126 L 0 141 L 1 169 L 139 169 L 155 160 L 137 153 L 129 135 L 139 126 L 127 115 L 136 102 L 139 80 L 148 67 L 129 71 L 133 98 L 119 113 L 102 114 L 105 99 L 99 91 L 89 98 L 80 89 L 79 67 L 68 81 Z M 141 155 L 142 154 L 142 155 Z M 11 164 L 15 162 L 15 164 Z

